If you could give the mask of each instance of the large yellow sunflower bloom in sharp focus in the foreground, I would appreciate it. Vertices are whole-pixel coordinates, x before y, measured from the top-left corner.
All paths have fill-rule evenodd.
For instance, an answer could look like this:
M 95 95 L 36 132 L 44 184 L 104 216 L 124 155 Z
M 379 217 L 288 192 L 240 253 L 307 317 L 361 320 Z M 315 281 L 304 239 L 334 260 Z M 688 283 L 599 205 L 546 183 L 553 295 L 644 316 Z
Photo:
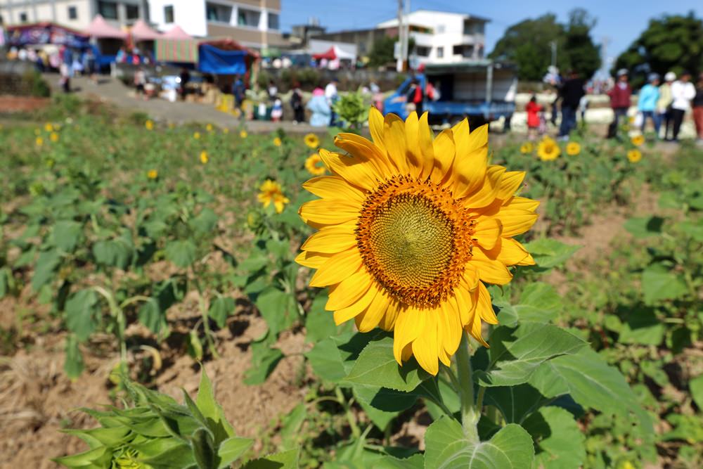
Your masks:
M 433 375 L 449 366 L 463 330 L 484 345 L 498 323 L 485 283 L 505 285 L 508 266 L 534 264 L 512 236 L 537 219 L 538 202 L 515 196 L 524 172 L 488 164 L 488 126 L 467 120 L 436 138 L 427 113 L 406 122 L 370 109 L 373 142 L 339 134 L 350 156 L 320 150 L 332 176 L 303 184 L 321 197 L 299 214 L 319 229 L 296 260 L 330 287 L 335 323 L 393 330 L 398 364 L 415 356 Z

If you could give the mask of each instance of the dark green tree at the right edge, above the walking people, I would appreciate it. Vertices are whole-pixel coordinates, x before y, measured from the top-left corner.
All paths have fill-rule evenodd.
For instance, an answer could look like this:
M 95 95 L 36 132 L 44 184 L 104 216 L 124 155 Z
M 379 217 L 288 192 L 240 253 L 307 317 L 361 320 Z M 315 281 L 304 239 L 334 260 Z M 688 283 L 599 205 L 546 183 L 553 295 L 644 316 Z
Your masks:
M 688 15 L 664 15 L 650 20 L 646 30 L 615 60 L 613 72 L 630 70 L 637 82 L 645 75 L 672 71 L 703 70 L 703 21 L 693 12 Z

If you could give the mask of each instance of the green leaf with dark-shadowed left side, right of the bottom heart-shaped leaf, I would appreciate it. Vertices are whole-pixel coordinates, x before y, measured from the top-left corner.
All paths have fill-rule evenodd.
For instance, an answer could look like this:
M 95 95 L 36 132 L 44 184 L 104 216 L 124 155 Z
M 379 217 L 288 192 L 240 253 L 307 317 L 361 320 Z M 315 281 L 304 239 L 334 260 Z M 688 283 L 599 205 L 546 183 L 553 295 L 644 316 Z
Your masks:
M 586 462 L 586 441 L 571 413 L 548 406 L 533 413 L 524 428 L 537 444 L 536 467 L 545 469 L 581 468 Z

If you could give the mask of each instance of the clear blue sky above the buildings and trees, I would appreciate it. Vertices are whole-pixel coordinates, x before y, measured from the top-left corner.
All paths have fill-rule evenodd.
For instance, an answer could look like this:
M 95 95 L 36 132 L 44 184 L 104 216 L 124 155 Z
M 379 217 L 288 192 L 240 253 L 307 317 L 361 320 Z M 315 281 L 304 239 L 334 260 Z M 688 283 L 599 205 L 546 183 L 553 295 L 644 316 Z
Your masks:
M 397 0 L 282 0 L 281 26 L 290 31 L 292 25 L 307 23 L 307 18 L 319 18 L 328 31 L 369 27 L 394 18 Z M 457 11 L 484 16 L 491 20 L 486 29 L 486 50 L 492 51 L 507 27 L 525 18 L 536 18 L 552 12 L 564 21 L 567 13 L 582 6 L 598 18 L 593 39 L 610 38 L 608 56 L 624 51 L 638 37 L 650 18 L 664 13 L 685 14 L 694 11 L 703 16 L 703 0 L 411 0 L 413 10 Z

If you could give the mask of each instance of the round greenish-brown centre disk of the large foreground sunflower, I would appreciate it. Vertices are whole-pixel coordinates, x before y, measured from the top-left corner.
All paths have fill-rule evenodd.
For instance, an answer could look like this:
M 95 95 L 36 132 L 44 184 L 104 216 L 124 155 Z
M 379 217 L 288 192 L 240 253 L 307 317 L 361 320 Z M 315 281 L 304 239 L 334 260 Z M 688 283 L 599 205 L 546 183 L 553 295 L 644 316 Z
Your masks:
M 356 228 L 369 273 L 392 297 L 434 307 L 458 283 L 471 255 L 471 223 L 451 194 L 399 176 L 368 195 Z

